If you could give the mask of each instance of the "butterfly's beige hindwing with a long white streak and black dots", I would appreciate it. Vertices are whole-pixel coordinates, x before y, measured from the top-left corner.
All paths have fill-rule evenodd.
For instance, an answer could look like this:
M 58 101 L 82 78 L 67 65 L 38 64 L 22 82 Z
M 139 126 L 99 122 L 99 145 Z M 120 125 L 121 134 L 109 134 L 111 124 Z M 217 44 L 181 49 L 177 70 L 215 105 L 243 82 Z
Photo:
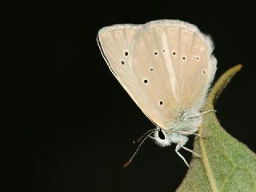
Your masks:
M 198 113 L 216 71 L 210 38 L 187 22 L 154 21 L 142 26 L 132 49 L 134 75 L 159 126 L 178 120 L 182 110 Z

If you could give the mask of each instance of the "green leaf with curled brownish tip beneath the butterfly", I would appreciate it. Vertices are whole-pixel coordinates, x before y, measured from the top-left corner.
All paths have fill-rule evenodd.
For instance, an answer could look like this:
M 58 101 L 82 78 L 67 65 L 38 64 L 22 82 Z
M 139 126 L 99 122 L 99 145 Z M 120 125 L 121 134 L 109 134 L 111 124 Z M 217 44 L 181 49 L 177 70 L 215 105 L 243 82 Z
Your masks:
M 214 102 L 242 65 L 227 70 L 206 101 L 205 109 Z M 226 132 L 214 113 L 206 114 L 199 127 L 204 138 L 195 138 L 194 151 L 202 158 L 192 158 L 190 169 L 178 187 L 181 191 L 256 191 L 256 154 Z

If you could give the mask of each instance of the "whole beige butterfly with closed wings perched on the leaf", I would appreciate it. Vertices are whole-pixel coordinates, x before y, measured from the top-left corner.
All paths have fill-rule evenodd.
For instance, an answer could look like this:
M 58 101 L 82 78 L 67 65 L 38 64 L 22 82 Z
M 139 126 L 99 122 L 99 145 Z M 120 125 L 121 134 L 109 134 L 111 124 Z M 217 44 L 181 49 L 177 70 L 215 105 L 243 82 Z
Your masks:
M 178 150 L 198 155 L 184 146 L 187 136 L 197 132 L 202 114 L 213 111 L 201 111 L 217 69 L 211 39 L 188 22 L 157 20 L 103 27 L 97 40 L 111 72 L 157 126 L 142 142 L 176 143 L 189 166 Z

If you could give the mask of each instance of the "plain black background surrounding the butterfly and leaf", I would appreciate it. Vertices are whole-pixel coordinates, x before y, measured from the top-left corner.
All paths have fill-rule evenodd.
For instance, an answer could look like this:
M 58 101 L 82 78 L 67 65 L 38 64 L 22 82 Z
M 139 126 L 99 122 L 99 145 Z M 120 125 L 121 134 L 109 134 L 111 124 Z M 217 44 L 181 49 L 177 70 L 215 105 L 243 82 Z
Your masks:
M 210 4 L 212 3 L 212 4 Z M 118 1 L 2 6 L 1 191 L 174 191 L 187 167 L 174 146 L 132 141 L 154 125 L 108 70 L 102 26 L 155 19 L 191 22 L 214 39 L 215 80 L 242 63 L 218 99 L 222 126 L 256 151 L 252 5 Z M 193 139 L 187 144 L 193 147 Z M 191 155 L 182 150 L 190 160 Z

